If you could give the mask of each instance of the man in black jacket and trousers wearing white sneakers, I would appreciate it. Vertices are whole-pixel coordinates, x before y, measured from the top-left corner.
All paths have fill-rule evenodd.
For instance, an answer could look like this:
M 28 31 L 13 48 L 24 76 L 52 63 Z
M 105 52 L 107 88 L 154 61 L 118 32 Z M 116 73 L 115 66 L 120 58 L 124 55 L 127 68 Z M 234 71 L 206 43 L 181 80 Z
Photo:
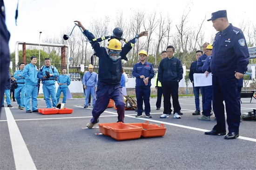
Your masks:
M 173 99 L 174 118 L 181 118 L 178 114 L 181 111 L 179 103 L 179 82 L 183 78 L 183 68 L 181 60 L 174 57 L 175 48 L 168 46 L 167 57 L 162 59 L 158 67 L 158 79 L 162 84 L 164 112 L 160 118 L 168 118 L 170 112 L 170 99 Z

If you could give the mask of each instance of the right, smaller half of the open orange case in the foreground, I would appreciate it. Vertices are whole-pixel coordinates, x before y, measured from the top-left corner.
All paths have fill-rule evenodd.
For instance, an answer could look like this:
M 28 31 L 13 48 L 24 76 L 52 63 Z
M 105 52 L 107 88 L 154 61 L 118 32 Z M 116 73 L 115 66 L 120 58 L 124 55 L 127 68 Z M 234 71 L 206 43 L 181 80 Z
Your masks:
M 148 124 L 148 121 L 143 123 L 131 123 L 130 125 L 135 125 L 138 127 L 142 127 L 143 131 L 141 132 L 142 137 L 162 137 L 165 135 L 166 128 L 164 124 Z

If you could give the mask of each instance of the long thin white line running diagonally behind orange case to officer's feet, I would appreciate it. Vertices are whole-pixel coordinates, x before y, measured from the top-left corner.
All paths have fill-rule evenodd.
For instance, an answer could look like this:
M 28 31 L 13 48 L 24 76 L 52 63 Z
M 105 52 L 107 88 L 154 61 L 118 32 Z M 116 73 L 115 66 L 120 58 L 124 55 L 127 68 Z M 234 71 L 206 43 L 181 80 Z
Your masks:
M 78 107 L 78 106 L 77 106 L 77 107 Z M 92 109 L 92 108 L 87 108 L 87 109 Z M 190 110 L 189 110 L 189 111 L 190 111 Z M 117 113 L 110 112 L 110 111 L 104 111 L 104 112 L 117 115 Z M 134 116 L 129 116 L 129 115 L 125 115 L 125 117 L 128 117 L 128 118 L 135 118 Z M 168 122 L 162 122 L 162 121 L 153 120 L 153 119 L 149 119 L 149 118 L 136 118 L 136 119 L 141 119 L 141 120 L 145 120 L 145 121 L 147 120 L 147 121 L 150 121 L 150 122 L 155 122 L 155 123 L 160 123 L 160 124 L 168 124 L 168 125 L 171 125 L 171 126 L 176 126 L 176 127 L 191 129 L 191 130 L 195 130 L 195 131 L 203 131 L 203 132 L 209 131 L 209 130 L 200 129 L 200 128 L 195 128 L 195 127 L 191 127 L 191 126 L 185 126 L 185 125 L 181 125 L 181 124 L 172 124 L 172 123 L 168 123 Z M 256 139 L 255 139 L 255 138 L 241 137 L 241 136 L 238 137 L 238 138 L 239 138 L 239 139 L 243 139 L 243 140 L 248 140 L 248 141 L 256 142 Z

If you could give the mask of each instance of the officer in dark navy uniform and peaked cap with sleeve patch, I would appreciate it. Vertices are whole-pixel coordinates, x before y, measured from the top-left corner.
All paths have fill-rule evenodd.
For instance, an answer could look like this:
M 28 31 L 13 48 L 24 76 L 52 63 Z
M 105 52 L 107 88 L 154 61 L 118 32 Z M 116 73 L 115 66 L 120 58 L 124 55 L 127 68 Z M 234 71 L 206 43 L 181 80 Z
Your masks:
M 209 20 L 212 20 L 216 31 L 219 31 L 214 39 L 212 61 L 209 67 L 212 72 L 213 108 L 217 124 L 212 131 L 205 134 L 226 134 L 224 100 L 229 126 L 229 133 L 224 139 L 235 139 L 239 137 L 241 116 L 237 100 L 237 83 L 247 71 L 249 51 L 243 32 L 229 24 L 226 10 L 212 13 Z

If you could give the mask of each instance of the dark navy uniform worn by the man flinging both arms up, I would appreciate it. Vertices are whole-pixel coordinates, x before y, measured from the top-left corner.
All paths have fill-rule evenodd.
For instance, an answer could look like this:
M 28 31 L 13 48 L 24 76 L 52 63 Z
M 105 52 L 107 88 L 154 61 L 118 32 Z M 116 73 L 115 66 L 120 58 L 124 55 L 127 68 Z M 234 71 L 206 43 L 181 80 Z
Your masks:
M 118 113 L 118 122 L 123 122 L 125 105 L 120 85 L 122 75 L 121 58 L 116 61 L 112 61 L 108 57 L 107 49 L 105 47 L 101 47 L 100 43 L 93 40 L 95 37 L 92 33 L 88 30 L 85 30 L 83 33 L 88 40 L 91 41 L 90 43 L 94 48 L 96 56 L 99 57 L 99 82 L 96 92 L 97 100 L 92 111 L 93 118 L 91 119 L 91 123 L 96 124 L 99 122 L 99 117 L 101 113 L 106 110 L 110 98 L 115 101 Z M 130 46 L 125 45 L 122 50 L 127 52 L 129 51 L 128 48 L 130 48 Z

